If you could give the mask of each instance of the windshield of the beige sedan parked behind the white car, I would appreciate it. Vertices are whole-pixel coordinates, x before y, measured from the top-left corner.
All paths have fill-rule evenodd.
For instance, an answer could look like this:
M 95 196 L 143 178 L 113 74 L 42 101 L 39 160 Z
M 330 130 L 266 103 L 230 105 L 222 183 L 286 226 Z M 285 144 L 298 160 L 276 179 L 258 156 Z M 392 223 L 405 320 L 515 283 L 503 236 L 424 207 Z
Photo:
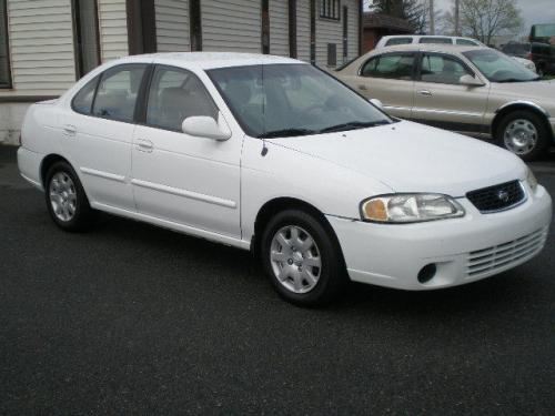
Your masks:
M 463 54 L 492 82 L 525 82 L 538 79 L 537 74 L 522 63 L 493 49 L 478 49 Z

